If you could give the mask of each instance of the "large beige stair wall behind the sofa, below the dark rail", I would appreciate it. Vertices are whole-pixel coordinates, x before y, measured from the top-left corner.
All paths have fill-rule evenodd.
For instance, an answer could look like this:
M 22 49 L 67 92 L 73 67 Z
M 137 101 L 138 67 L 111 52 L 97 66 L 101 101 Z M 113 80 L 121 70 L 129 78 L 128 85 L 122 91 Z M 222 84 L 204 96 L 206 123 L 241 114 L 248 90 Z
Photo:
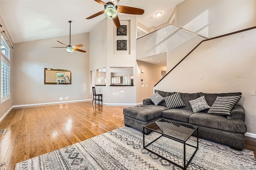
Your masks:
M 203 79 L 200 79 L 203 77 Z M 242 92 L 247 132 L 256 134 L 256 29 L 203 42 L 154 89 L 182 93 Z M 255 122 L 255 121 L 254 121 Z

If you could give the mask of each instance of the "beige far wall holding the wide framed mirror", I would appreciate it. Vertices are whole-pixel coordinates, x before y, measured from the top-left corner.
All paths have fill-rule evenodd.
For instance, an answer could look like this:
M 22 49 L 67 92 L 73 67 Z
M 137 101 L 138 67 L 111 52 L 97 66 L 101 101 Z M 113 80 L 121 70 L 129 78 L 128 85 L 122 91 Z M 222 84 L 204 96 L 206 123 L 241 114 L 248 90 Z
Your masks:
M 83 44 L 82 53 L 51 48 L 67 43 L 69 36 L 16 43 L 13 54 L 13 105 L 89 99 L 89 33 L 71 35 L 72 43 Z M 71 85 L 44 85 L 44 68 L 72 72 Z

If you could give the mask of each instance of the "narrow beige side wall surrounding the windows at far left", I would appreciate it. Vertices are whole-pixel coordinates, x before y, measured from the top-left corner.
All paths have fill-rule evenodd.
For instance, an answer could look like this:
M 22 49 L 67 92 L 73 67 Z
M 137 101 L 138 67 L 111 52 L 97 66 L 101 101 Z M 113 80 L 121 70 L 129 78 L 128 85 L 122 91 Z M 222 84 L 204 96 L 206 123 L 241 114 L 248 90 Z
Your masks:
M 2 18 L 0 17 L 0 24 L 2 25 L 2 27 L 0 27 L 1 32 L 5 31 L 6 35 L 8 36 L 8 39 L 10 40 L 10 43 L 12 44 L 13 47 L 14 44 L 12 43 L 12 39 L 10 38 L 9 34 L 8 34 L 8 30 L 6 29 L 4 22 L 2 20 Z M 2 34 L 2 36 L 7 40 L 5 34 Z M 10 44 L 8 44 L 10 45 Z M 13 51 L 14 49 L 12 49 L 12 47 L 10 47 L 10 66 L 11 66 L 11 77 L 13 76 Z M 1 55 L 2 51 L 0 52 Z M 1 79 L 1 78 L 0 78 Z M 1 80 L 2 82 L 2 80 Z M 0 121 L 2 121 L 3 116 L 8 112 L 8 110 L 12 107 L 12 100 L 13 100 L 13 84 L 14 84 L 14 80 L 11 79 L 11 98 L 4 101 L 3 103 L 0 104 Z

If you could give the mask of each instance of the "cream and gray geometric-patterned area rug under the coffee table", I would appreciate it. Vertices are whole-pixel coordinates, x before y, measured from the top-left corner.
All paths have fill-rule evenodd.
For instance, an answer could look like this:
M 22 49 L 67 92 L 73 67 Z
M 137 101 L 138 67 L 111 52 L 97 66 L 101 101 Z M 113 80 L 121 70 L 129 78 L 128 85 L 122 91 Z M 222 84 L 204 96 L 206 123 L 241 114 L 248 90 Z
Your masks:
M 146 136 L 146 135 L 145 135 Z M 147 143 L 159 134 L 145 137 Z M 193 136 L 187 142 L 196 146 Z M 177 164 L 183 162 L 183 144 L 161 137 L 148 146 Z M 194 148 L 186 146 L 189 159 Z M 180 170 L 170 162 L 143 149 L 143 134 L 121 127 L 65 148 L 16 164 L 15 170 Z M 199 139 L 199 149 L 187 170 L 256 169 L 254 153 Z

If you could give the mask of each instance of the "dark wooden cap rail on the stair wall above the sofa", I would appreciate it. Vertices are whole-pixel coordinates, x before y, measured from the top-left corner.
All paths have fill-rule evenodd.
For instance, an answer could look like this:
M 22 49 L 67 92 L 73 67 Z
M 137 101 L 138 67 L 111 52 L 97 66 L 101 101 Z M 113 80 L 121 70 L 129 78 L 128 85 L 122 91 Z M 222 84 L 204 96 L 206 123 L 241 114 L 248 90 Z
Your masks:
M 178 62 L 178 64 L 176 64 L 166 75 L 164 75 L 164 77 L 166 77 L 173 69 L 175 69 L 175 67 L 177 67 L 186 57 L 188 57 L 188 55 L 190 55 L 190 53 L 192 53 L 202 42 L 206 42 L 206 41 L 210 41 L 210 40 L 214 40 L 216 38 L 222 38 L 222 37 L 225 37 L 225 36 L 230 36 L 232 34 L 237 34 L 237 33 L 240 33 L 240 32 L 245 32 L 245 31 L 248 31 L 248 30 L 252 30 L 252 29 L 255 29 L 256 26 L 254 27 L 251 27 L 251 28 L 246 28 L 244 30 L 240 30 L 240 31 L 236 31 L 236 32 L 232 32 L 232 33 L 229 33 L 229 34 L 224 34 L 222 36 L 217 36 L 217 37 L 214 37 L 214 38 L 209 38 L 207 40 L 202 40 L 200 43 L 198 43 L 198 45 L 196 45 L 196 47 L 194 47 L 182 60 L 180 60 L 180 62 Z M 164 77 L 162 79 L 164 79 Z M 162 81 L 162 79 L 160 79 L 156 85 Z M 154 85 L 154 87 L 156 87 L 156 85 Z

